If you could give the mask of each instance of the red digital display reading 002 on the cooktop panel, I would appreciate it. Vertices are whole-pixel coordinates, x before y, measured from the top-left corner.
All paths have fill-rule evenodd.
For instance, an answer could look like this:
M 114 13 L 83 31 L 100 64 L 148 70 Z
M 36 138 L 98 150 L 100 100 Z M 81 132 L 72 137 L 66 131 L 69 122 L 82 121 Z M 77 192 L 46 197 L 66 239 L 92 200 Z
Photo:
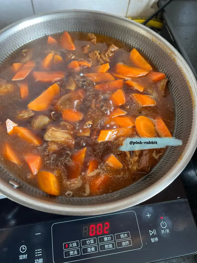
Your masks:
M 108 234 L 109 227 L 110 227 L 109 222 L 100 222 L 88 226 L 83 226 L 83 237 L 100 236 L 103 234 Z

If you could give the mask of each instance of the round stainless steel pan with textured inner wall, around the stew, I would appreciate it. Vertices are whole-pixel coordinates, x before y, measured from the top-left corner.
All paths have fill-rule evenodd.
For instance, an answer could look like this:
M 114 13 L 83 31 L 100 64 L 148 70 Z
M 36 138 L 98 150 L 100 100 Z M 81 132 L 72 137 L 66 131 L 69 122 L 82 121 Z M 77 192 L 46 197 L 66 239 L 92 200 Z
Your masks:
M 114 212 L 151 198 L 184 169 L 196 149 L 196 79 L 182 56 L 162 37 L 126 18 L 101 12 L 60 11 L 34 16 L 0 31 L 0 65 L 24 44 L 57 32 L 83 31 L 111 36 L 136 47 L 170 80 L 176 124 L 182 146 L 169 147 L 161 162 L 142 180 L 120 191 L 89 198 L 51 197 L 0 166 L 0 192 L 22 205 L 57 214 L 94 215 Z M 9 183 L 13 180 L 14 183 Z M 16 187 L 19 186 L 19 187 Z

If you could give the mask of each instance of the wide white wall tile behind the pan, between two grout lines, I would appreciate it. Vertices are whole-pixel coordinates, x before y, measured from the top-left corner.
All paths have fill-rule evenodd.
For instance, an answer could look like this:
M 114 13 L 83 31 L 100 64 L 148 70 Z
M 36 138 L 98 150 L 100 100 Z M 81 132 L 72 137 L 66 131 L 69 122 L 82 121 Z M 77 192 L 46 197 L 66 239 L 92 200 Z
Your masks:
M 63 9 L 97 10 L 126 16 L 129 0 L 33 0 L 35 14 Z

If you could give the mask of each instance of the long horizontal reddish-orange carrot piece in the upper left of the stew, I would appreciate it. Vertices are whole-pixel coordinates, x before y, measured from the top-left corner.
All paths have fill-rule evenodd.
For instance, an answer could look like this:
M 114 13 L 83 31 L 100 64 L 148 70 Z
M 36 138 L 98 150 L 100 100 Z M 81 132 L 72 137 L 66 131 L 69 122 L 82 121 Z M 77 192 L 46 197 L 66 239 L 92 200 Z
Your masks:
M 36 81 L 55 82 L 65 76 L 63 71 L 34 71 L 33 76 Z

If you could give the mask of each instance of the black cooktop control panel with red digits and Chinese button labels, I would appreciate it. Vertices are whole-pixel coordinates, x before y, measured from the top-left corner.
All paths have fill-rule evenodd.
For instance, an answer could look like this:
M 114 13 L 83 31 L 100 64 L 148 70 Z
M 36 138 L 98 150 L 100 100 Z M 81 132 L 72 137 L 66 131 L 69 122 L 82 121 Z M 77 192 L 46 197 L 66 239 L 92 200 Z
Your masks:
M 186 199 L 0 229 L 1 263 L 144 263 L 196 252 Z

